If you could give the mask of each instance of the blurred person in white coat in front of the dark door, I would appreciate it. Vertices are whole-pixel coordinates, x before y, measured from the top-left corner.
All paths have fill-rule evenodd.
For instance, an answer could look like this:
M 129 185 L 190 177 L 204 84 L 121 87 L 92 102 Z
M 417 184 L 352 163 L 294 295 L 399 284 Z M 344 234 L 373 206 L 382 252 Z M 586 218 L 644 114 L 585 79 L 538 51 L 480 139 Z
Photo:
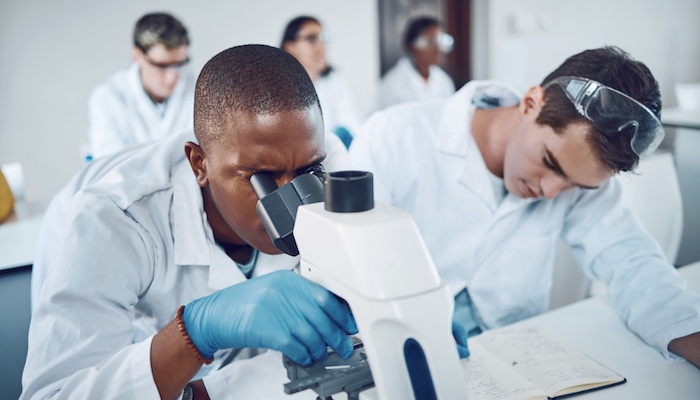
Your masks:
M 377 109 L 442 99 L 454 93 L 452 78 L 439 67 L 453 44 L 454 39 L 443 32 L 437 19 L 426 16 L 411 19 L 403 38 L 407 56 L 384 74 L 379 84 Z

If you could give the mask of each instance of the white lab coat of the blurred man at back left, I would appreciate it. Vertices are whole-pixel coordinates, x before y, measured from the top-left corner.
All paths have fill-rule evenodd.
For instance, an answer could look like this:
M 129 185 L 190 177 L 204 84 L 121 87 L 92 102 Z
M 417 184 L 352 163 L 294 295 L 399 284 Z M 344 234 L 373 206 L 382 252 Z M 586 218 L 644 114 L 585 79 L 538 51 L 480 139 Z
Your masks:
M 96 87 L 88 101 L 88 153 L 93 159 L 192 128 L 195 76 L 185 69 L 161 104 L 146 93 L 133 63 Z

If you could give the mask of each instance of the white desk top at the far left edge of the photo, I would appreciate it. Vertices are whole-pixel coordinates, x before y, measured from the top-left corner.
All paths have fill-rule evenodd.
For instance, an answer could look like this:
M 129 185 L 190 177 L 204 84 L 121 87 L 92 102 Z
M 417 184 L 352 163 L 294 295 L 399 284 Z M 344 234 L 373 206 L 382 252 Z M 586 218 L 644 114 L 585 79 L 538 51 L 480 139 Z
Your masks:
M 0 224 L 0 271 L 32 264 L 45 209 L 43 202 L 17 203 Z

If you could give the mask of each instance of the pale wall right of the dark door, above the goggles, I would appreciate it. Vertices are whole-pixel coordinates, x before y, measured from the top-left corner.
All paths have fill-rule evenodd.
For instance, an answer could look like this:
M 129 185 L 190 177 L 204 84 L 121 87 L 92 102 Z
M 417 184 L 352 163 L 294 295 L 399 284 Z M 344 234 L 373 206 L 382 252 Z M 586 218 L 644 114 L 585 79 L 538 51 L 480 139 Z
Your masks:
M 475 78 L 525 90 L 567 57 L 615 45 L 644 62 L 675 105 L 673 84 L 700 81 L 697 0 L 472 0 Z M 482 49 L 482 47 L 479 47 Z

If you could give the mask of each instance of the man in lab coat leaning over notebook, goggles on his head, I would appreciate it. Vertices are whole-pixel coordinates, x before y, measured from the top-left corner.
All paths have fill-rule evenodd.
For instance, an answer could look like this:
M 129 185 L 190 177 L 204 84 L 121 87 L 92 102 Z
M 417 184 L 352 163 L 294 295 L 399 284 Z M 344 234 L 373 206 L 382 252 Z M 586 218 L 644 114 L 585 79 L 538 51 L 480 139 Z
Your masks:
M 350 159 L 374 174 L 377 201 L 413 215 L 472 335 L 547 311 L 562 239 L 632 331 L 700 367 L 700 295 L 611 179 L 657 148 L 660 112 L 649 69 L 605 47 L 568 58 L 522 96 L 472 81 L 447 99 L 377 112 Z

